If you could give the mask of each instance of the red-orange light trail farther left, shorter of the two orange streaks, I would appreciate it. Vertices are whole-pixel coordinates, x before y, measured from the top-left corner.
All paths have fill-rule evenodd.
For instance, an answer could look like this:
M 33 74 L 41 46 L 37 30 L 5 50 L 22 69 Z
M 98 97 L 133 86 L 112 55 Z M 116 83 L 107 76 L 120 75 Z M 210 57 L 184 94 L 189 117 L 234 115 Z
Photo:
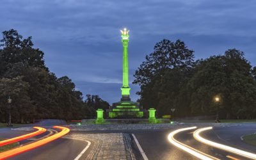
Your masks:
M 11 138 L 11 139 L 8 139 L 8 140 L 0 141 L 0 147 L 3 146 L 3 145 L 8 145 L 8 144 L 10 144 L 10 143 L 17 142 L 17 141 L 26 140 L 26 139 L 28 139 L 28 138 L 37 136 L 38 134 L 42 134 L 43 132 L 46 131 L 46 129 L 44 129 L 44 128 L 42 128 L 42 127 L 33 127 L 33 128 L 34 128 L 34 129 L 37 129 L 38 131 L 31 132 L 31 133 L 29 133 L 29 134 L 24 134 L 24 135 L 22 135 L 22 136 L 18 136 L 18 137 Z

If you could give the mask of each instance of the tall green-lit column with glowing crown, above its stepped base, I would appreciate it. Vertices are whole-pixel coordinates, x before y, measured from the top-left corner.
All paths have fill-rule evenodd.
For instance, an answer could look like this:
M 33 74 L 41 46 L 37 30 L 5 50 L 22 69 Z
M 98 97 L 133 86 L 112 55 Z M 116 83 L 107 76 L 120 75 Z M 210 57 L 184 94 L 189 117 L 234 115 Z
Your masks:
M 123 43 L 123 86 L 122 90 L 122 97 L 128 98 L 130 95 L 129 88 L 129 77 L 128 77 L 128 42 L 129 42 L 129 31 L 125 28 L 124 31 L 121 30 L 122 33 L 122 43 Z

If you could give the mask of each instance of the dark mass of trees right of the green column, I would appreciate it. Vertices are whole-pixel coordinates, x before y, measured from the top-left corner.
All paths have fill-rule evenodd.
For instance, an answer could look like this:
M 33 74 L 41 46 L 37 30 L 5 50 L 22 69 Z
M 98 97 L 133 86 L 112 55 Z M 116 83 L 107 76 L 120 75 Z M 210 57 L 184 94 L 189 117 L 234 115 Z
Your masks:
M 134 77 L 143 108 L 156 108 L 159 116 L 175 108 L 180 117 L 218 110 L 221 118 L 256 118 L 256 67 L 237 49 L 195 61 L 184 42 L 164 39 Z

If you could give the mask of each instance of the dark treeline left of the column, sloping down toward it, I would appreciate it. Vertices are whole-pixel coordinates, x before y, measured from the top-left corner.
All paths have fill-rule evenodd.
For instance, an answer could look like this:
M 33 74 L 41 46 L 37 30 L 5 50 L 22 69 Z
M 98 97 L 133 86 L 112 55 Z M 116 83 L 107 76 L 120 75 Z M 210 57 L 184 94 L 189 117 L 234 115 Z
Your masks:
M 33 48 L 31 36 L 22 38 L 17 31 L 3 32 L 0 46 L 0 121 L 7 119 L 7 99 L 12 98 L 13 122 L 41 118 L 65 120 L 92 118 L 99 106 L 109 106 L 97 95 L 75 89 L 67 76 L 56 77 L 45 67 L 44 52 Z

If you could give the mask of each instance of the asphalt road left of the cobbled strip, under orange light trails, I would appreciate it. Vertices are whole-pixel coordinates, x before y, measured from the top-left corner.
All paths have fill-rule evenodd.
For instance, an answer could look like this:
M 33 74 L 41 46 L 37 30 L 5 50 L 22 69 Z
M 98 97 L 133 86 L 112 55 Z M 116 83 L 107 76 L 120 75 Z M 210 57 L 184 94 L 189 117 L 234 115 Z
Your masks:
M 0 135 L 2 138 L 13 138 L 15 136 L 20 136 L 22 134 L 28 134 L 31 131 L 13 131 L 12 129 L 0 129 Z M 44 132 L 36 137 L 29 138 L 28 140 L 20 141 L 20 145 L 26 145 L 32 143 L 44 136 L 50 134 L 49 131 Z M 41 147 L 29 150 L 17 156 L 11 157 L 9 159 L 19 159 L 19 160 L 42 160 L 42 159 L 54 159 L 54 160 L 63 160 L 63 159 L 75 159 L 81 151 L 88 145 L 86 141 L 81 140 L 72 140 L 67 138 L 60 138 L 54 140 L 51 143 L 43 145 Z M 83 154 L 83 157 L 86 157 L 90 153 L 90 148 L 86 150 Z

